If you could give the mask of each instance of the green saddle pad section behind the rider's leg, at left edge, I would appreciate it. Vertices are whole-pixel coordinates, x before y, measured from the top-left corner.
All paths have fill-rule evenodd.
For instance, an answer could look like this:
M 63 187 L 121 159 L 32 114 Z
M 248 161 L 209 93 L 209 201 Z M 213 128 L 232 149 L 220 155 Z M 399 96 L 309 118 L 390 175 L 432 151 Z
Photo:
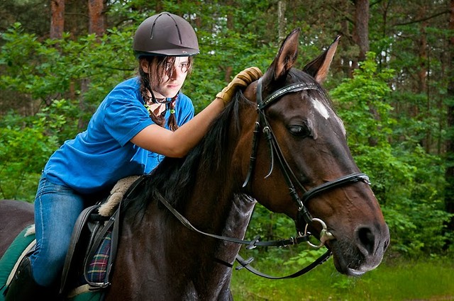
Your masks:
M 4 256 L 0 259 L 0 296 L 3 297 L 4 290 L 6 289 L 6 282 L 11 274 L 23 251 L 35 240 L 35 234 L 26 236 L 28 228 L 26 227 L 18 234 L 13 243 L 6 250 Z

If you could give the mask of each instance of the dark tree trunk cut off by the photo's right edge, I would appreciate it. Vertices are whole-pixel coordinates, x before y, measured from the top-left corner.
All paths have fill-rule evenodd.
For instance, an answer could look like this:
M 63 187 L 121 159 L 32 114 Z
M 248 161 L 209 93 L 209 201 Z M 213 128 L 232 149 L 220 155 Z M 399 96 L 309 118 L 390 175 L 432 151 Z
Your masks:
M 449 30 L 454 30 L 454 0 L 450 1 L 450 18 L 449 18 Z M 448 69 L 448 91 L 447 98 L 448 101 L 448 135 L 446 141 L 446 188 L 445 188 L 445 207 L 448 213 L 454 213 L 454 37 L 451 36 L 449 40 L 449 50 L 450 52 L 450 62 Z M 448 222 L 448 228 L 446 231 L 452 233 L 454 231 L 454 217 L 451 217 L 450 222 Z

